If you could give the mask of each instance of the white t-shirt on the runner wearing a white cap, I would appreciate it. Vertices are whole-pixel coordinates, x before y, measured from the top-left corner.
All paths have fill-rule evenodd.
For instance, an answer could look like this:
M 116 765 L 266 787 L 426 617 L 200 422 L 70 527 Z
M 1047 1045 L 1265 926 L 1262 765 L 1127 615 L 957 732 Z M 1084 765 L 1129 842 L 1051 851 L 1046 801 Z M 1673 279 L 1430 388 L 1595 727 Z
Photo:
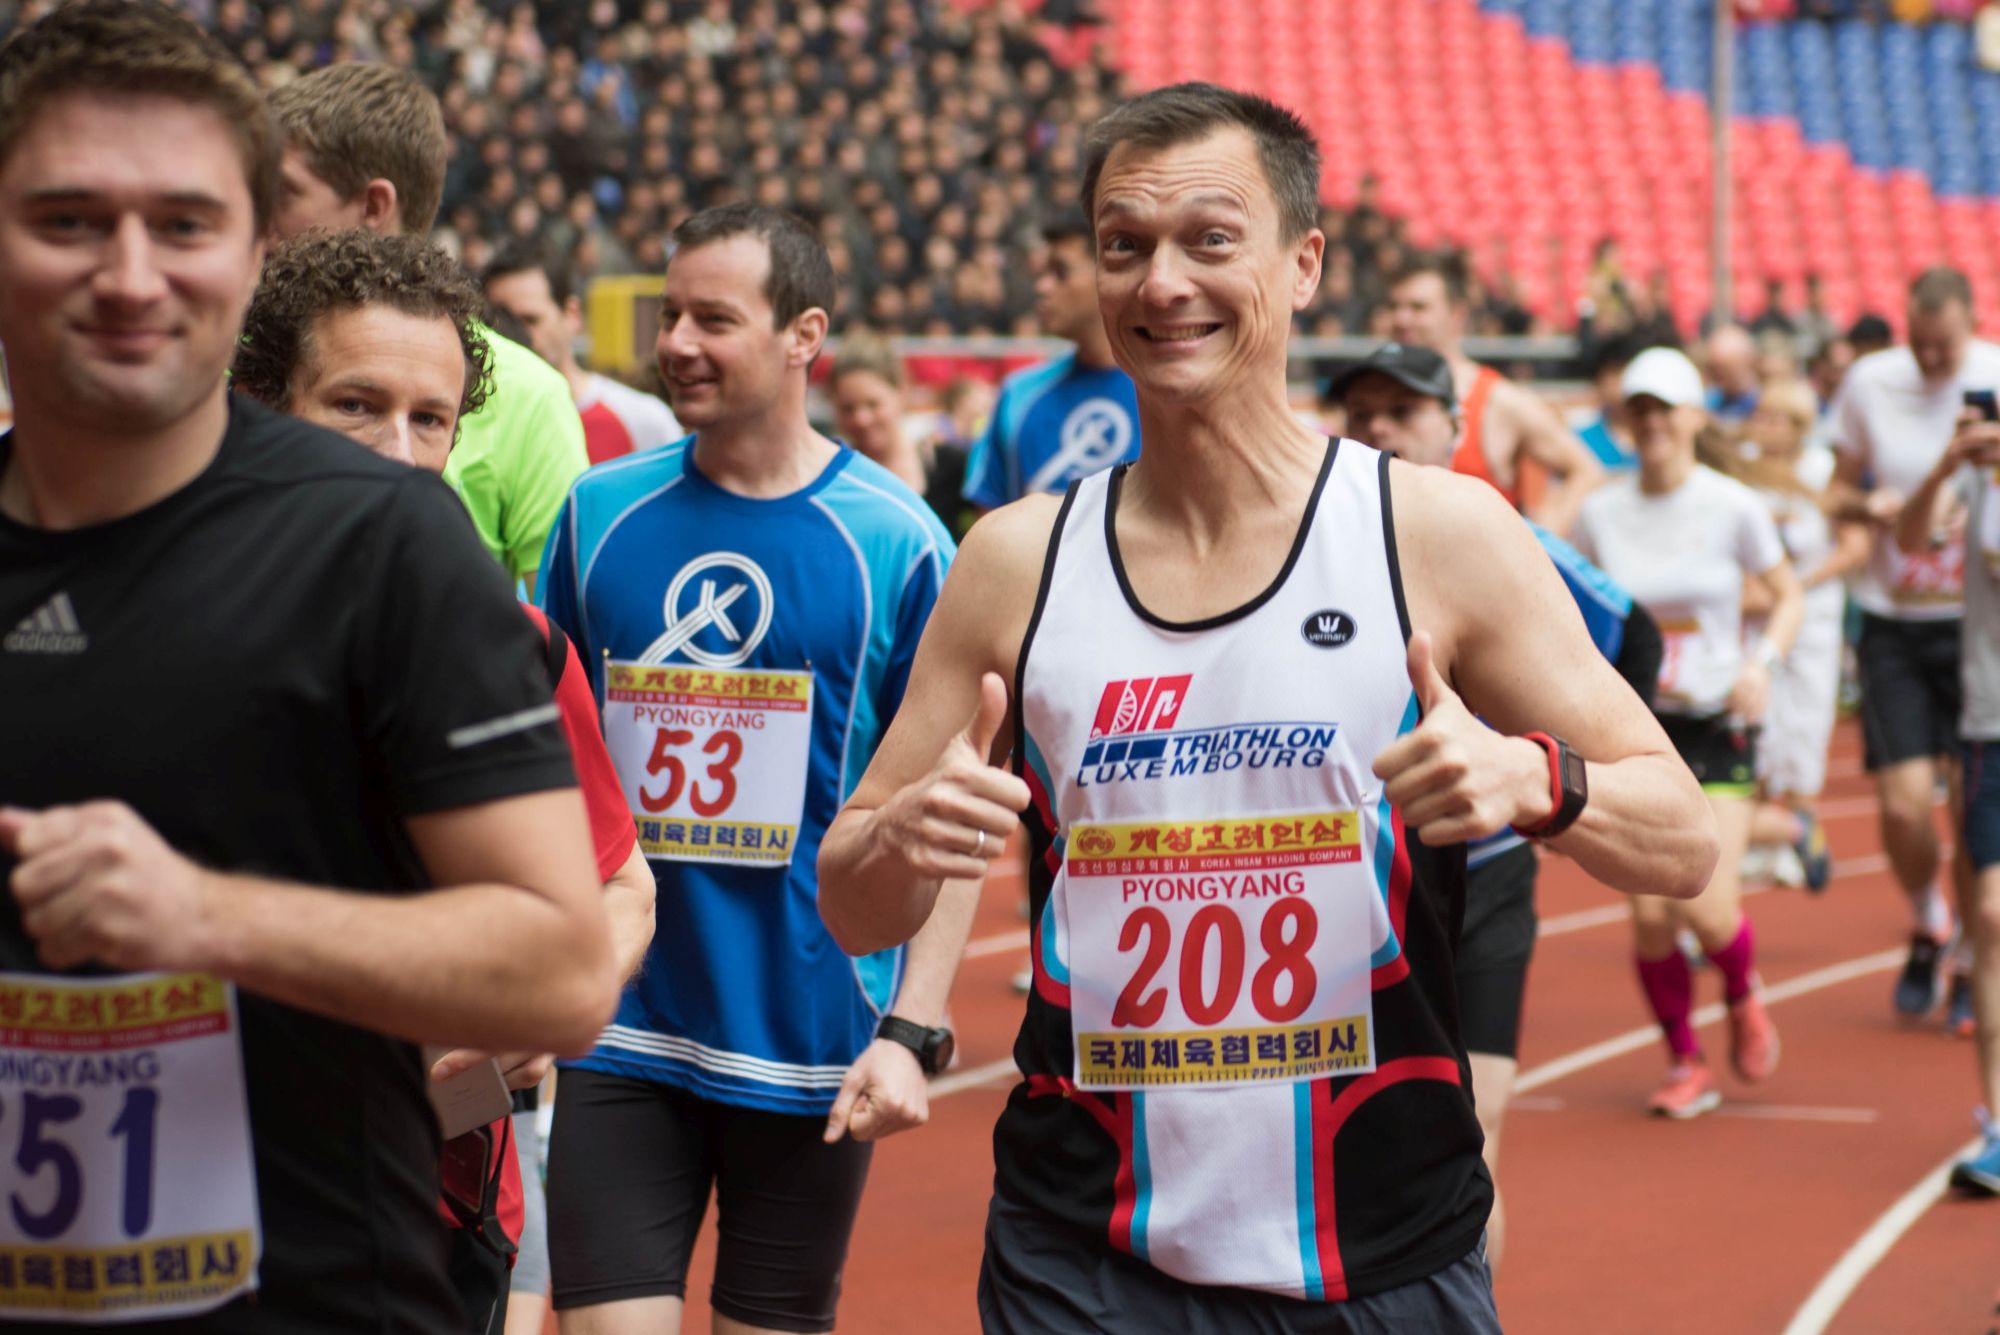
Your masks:
M 1758 494 L 1702 466 L 1666 496 L 1614 478 L 1584 500 L 1574 542 L 1660 624 L 1654 709 L 1722 713 L 1744 668 L 1744 576 L 1784 560 Z

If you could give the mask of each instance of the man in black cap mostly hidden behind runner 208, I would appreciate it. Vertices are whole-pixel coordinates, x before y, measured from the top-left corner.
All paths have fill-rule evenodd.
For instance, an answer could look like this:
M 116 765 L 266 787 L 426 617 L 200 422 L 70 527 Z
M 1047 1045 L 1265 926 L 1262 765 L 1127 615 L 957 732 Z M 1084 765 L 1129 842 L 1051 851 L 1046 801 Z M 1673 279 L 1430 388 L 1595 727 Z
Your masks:
M 1460 416 L 1450 364 L 1430 348 L 1382 344 L 1328 386 L 1346 410 L 1354 440 L 1426 468 L 1450 468 Z M 1660 632 L 1646 610 L 1584 560 L 1576 548 L 1528 522 L 1542 550 L 1584 614 L 1604 658 L 1652 701 L 1660 675 Z M 1458 931 L 1458 1031 L 1472 1063 L 1472 1103 L 1486 1135 L 1494 1175 L 1494 1213 L 1486 1225 L 1486 1261 L 1500 1265 L 1506 1215 L 1500 1207 L 1500 1127 L 1520 1053 L 1520 1005 L 1534 955 L 1534 845 L 1514 831 L 1466 847 L 1466 919 Z

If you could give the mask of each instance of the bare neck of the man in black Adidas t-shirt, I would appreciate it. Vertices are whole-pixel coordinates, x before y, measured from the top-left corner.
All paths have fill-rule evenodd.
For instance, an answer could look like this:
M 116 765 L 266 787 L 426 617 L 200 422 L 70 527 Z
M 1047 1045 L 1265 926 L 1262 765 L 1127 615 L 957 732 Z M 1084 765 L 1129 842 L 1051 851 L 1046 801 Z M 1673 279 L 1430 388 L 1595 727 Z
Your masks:
M 0 514 L 44 530 L 110 524 L 194 482 L 222 450 L 228 388 L 172 426 L 134 438 L 130 430 L 78 424 L 36 400 L 14 410 L 14 438 L 0 466 Z

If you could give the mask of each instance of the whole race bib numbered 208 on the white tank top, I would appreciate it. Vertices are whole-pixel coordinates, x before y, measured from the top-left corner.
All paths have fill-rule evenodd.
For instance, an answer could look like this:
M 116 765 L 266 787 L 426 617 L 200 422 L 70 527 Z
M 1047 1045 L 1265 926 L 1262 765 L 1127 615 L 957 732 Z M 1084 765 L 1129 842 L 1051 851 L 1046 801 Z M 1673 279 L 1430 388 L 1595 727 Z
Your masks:
M 1352 811 L 1078 825 L 1066 843 L 1076 1083 L 1372 1071 L 1388 935 Z

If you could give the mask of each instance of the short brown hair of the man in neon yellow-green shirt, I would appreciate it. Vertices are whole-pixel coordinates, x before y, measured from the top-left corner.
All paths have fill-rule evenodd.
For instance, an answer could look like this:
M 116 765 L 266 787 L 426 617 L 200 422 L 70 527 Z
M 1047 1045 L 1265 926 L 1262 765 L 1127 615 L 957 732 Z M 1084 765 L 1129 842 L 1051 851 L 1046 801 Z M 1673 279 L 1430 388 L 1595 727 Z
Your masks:
M 342 200 L 378 176 L 396 186 L 402 230 L 426 236 L 452 156 L 438 98 L 408 70 L 336 64 L 270 94 L 270 110 L 312 174 Z

